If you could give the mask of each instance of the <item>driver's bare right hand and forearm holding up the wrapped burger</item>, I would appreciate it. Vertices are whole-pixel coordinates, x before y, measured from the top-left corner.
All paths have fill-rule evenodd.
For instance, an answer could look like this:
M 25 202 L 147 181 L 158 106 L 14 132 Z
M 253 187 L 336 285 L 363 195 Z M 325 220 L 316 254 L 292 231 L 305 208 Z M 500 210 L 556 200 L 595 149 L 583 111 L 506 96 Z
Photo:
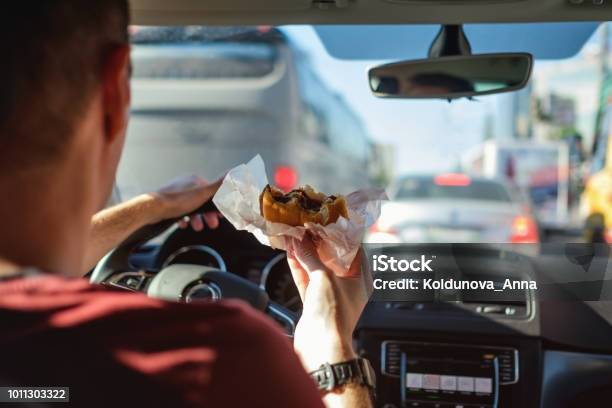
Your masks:
M 362 266 L 360 251 L 347 271 L 337 276 L 321 261 L 316 247 L 306 236 L 292 240 L 287 259 L 304 307 L 296 327 L 294 348 L 307 372 L 322 364 L 336 364 L 357 357 L 352 346 L 353 331 L 371 293 L 371 276 Z M 323 396 L 328 408 L 371 408 L 370 390 L 349 384 Z

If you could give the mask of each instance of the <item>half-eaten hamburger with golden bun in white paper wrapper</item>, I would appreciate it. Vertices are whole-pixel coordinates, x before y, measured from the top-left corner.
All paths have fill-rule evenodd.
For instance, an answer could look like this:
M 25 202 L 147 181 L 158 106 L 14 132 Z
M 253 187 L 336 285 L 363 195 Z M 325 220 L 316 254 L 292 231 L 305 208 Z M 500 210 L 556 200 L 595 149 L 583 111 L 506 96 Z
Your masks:
M 340 216 L 348 219 L 346 200 L 340 195 L 327 196 L 304 186 L 288 193 L 267 185 L 259 196 L 261 215 L 268 221 L 303 226 L 310 222 L 328 225 Z

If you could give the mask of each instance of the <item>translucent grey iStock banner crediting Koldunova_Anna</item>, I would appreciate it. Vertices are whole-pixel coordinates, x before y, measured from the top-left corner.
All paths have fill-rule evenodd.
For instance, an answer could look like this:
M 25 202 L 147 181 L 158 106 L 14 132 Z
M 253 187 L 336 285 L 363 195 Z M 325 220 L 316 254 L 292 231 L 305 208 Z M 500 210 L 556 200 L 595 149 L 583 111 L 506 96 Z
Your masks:
M 611 300 L 606 244 L 365 244 L 372 301 Z

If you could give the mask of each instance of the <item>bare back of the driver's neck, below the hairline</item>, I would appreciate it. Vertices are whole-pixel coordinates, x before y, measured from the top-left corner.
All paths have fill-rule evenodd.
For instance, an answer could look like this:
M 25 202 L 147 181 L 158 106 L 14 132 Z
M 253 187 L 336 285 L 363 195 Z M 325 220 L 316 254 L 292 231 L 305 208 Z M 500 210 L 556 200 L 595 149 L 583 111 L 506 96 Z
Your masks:
M 79 274 L 88 235 L 87 203 L 70 166 L 0 176 L 0 273 L 24 267 Z

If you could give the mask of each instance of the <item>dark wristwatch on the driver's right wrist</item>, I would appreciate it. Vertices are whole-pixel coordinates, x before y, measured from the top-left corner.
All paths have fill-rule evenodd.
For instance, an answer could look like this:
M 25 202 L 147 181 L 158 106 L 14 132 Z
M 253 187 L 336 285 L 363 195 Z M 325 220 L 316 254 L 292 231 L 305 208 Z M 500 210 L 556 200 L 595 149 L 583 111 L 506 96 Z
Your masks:
M 367 387 L 373 396 L 376 389 L 376 374 L 372 364 L 365 358 L 337 364 L 325 363 L 311 372 L 310 376 L 321 391 L 329 392 L 347 384 L 357 384 Z

